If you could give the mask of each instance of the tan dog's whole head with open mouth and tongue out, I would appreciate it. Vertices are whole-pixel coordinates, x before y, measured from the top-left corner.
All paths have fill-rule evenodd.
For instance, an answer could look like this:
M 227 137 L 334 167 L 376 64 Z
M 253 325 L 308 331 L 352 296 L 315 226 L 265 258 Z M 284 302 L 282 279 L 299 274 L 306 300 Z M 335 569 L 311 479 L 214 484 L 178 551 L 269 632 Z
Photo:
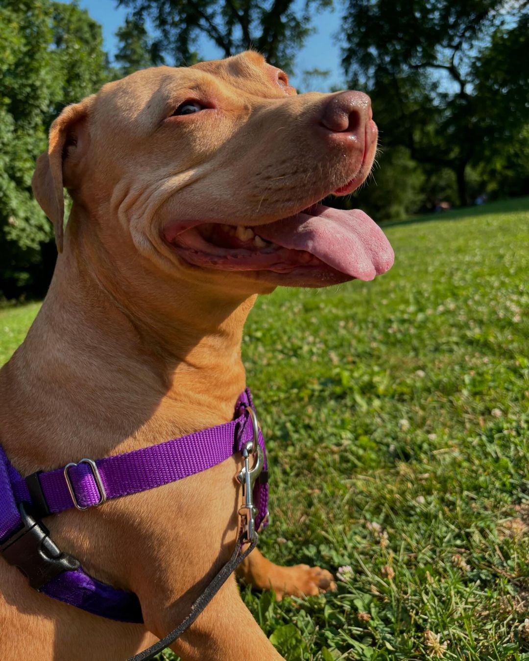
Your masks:
M 246 52 L 138 71 L 68 106 L 33 187 L 60 251 L 65 186 L 80 212 L 71 239 L 116 264 L 253 292 L 326 286 L 393 263 L 368 216 L 317 204 L 364 181 L 376 143 L 366 95 L 297 95 Z

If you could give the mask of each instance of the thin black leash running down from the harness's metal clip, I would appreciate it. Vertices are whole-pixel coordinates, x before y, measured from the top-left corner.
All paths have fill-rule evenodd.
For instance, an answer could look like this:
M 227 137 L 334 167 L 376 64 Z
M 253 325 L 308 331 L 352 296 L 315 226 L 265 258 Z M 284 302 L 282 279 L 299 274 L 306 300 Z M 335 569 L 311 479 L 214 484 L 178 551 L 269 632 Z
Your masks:
M 237 539 L 237 543 L 235 544 L 235 549 L 233 549 L 233 553 L 231 554 L 230 559 L 227 561 L 227 563 L 221 568 L 221 570 L 216 574 L 216 576 L 213 578 L 212 582 L 208 585 L 206 590 L 202 592 L 202 594 L 198 597 L 196 602 L 193 603 L 191 606 L 191 611 L 189 615 L 184 619 L 184 621 L 176 628 L 171 631 L 171 633 L 168 633 L 167 636 L 159 640 L 158 642 L 155 642 L 155 644 L 151 645 L 148 647 L 146 650 L 143 650 L 143 652 L 140 652 L 139 654 L 135 654 L 135 656 L 131 656 L 130 658 L 127 659 L 127 661 L 147 661 L 148 659 L 153 658 L 156 654 L 161 652 L 161 650 L 165 649 L 167 646 L 169 646 L 172 642 L 175 642 L 177 638 L 179 638 L 184 631 L 192 625 L 192 623 L 196 620 L 198 615 L 202 613 L 204 608 L 210 603 L 210 601 L 214 598 L 214 596 L 217 594 L 217 592 L 222 588 L 224 583 L 227 581 L 229 576 L 233 574 L 237 566 L 242 563 L 242 561 L 255 549 L 257 545 L 257 533 L 254 533 L 253 535 L 253 542 L 249 547 L 246 549 L 246 551 L 241 552 L 241 549 L 243 547 L 243 543 L 245 543 L 243 540 L 245 539 L 245 534 L 243 533 L 239 539 Z

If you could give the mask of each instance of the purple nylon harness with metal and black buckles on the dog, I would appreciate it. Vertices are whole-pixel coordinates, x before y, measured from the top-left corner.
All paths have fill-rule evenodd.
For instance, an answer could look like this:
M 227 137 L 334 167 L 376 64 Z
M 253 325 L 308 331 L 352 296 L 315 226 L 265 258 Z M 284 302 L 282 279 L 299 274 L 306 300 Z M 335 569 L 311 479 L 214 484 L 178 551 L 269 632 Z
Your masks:
M 205 471 L 236 452 L 242 452 L 245 459 L 245 468 L 237 476 L 245 498 L 239 514 L 246 539 L 253 541 L 255 528 L 266 525 L 268 473 L 265 441 L 249 389 L 237 400 L 231 422 L 114 457 L 81 459 L 25 479 L 0 446 L 0 555 L 28 576 L 32 588 L 49 597 L 95 615 L 141 623 L 136 594 L 89 576 L 77 559 L 61 553 L 40 518 L 72 507 L 85 510 L 110 498 L 167 485 Z M 251 455 L 256 457 L 252 469 Z M 257 464 L 264 470 L 254 470 Z

